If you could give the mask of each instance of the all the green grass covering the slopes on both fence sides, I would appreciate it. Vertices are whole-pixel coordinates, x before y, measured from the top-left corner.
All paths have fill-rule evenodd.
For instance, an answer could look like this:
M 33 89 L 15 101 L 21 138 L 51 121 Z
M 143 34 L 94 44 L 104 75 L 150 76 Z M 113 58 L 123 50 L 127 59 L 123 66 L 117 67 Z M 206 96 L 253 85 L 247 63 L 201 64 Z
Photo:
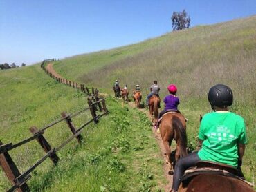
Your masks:
M 196 26 L 172 32 L 140 44 L 123 46 L 56 61 L 63 77 L 112 93 L 120 80 L 130 90 L 136 84 L 143 97 L 154 79 L 161 86 L 161 98 L 170 83 L 178 86 L 179 109 L 188 117 L 188 143 L 194 147 L 199 114 L 208 113 L 209 88 L 228 84 L 234 92 L 231 111 L 246 120 L 248 145 L 243 170 L 249 181 L 255 173 L 255 61 L 256 16 L 213 26 Z M 86 106 L 86 97 L 73 88 L 57 84 L 39 67 L 27 66 L 0 71 L 0 131 L 3 143 L 17 143 L 28 137 L 30 126 L 42 128 L 60 118 L 62 111 L 75 113 Z M 163 104 L 162 104 L 163 105 Z M 121 107 L 107 99 L 110 114 L 99 124 L 86 127 L 84 143 L 74 140 L 58 153 L 60 164 L 46 160 L 28 182 L 33 191 L 158 191 L 165 186 L 163 160 L 152 137 L 147 117 L 136 109 Z M 73 119 L 76 127 L 89 113 Z M 71 135 L 63 122 L 46 131 L 52 146 Z M 25 171 L 44 155 L 36 141 L 10 151 L 19 170 Z M 0 172 L 0 191 L 10 187 Z

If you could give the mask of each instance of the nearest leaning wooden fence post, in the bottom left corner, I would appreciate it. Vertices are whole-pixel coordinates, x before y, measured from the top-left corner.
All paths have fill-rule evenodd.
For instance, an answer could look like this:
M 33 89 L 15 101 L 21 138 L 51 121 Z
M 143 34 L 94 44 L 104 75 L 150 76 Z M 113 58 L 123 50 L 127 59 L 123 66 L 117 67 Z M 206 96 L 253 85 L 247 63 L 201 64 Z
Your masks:
M 3 143 L 0 140 L 0 145 Z M 15 162 L 12 161 L 12 157 L 10 157 L 8 152 L 4 152 L 0 154 L 0 165 L 3 169 L 3 172 L 6 173 L 6 177 L 8 177 L 8 180 L 12 183 L 15 184 L 15 178 L 19 177 L 21 173 L 19 172 L 19 169 L 17 169 L 17 166 L 15 165 Z M 26 182 L 19 186 L 17 189 L 18 191 L 30 191 L 28 185 Z

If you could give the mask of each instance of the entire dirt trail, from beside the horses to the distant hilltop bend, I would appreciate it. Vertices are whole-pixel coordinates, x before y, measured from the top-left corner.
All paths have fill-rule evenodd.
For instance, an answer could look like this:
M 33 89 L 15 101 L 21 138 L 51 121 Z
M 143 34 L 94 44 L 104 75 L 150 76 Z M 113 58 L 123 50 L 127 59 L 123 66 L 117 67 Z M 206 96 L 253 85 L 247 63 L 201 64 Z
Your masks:
M 53 68 L 53 64 L 48 64 L 46 66 L 46 70 L 48 70 L 50 73 L 52 73 L 53 75 L 55 75 L 55 77 L 59 77 L 59 78 L 62 78 L 64 79 L 62 76 L 60 76 Z M 129 102 L 129 105 L 132 106 L 133 108 L 136 108 L 134 102 Z M 145 108 L 139 108 L 138 110 L 142 111 L 143 113 L 145 113 L 147 115 L 147 117 L 149 117 L 149 112 L 145 109 Z M 149 117 L 150 118 L 150 117 Z M 163 157 L 163 171 L 164 171 L 164 174 L 165 174 L 165 178 L 168 182 L 168 184 L 166 186 L 163 186 L 165 191 L 170 191 L 170 188 L 172 186 L 172 175 L 169 175 L 168 174 L 168 171 L 170 170 L 169 169 L 169 166 L 165 163 L 167 158 L 166 158 L 166 155 L 165 155 L 165 148 L 163 146 L 163 142 L 162 142 L 162 138 L 161 138 L 161 135 L 156 133 L 156 130 L 155 128 L 152 126 L 152 132 L 153 132 L 153 135 L 154 135 L 154 138 L 156 139 L 156 141 L 158 142 L 158 146 L 161 150 L 161 156 Z

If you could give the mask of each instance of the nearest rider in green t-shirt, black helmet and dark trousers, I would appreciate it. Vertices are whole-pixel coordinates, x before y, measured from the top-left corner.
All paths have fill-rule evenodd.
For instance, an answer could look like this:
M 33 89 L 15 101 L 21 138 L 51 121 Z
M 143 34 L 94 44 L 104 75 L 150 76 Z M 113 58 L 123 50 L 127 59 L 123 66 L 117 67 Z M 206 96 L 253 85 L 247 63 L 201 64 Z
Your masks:
M 247 143 L 246 126 L 241 116 L 228 111 L 233 102 L 232 90 L 223 84 L 212 86 L 208 101 L 213 112 L 205 114 L 201 121 L 198 136 L 201 149 L 177 161 L 172 191 L 178 190 L 184 171 L 201 160 L 241 169 Z

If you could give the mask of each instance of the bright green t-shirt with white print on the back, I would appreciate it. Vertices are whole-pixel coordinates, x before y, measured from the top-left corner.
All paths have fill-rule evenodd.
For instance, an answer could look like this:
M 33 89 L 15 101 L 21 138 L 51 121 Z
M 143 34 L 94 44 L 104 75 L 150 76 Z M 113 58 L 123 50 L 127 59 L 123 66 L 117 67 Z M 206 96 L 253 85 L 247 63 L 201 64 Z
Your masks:
M 199 158 L 237 167 L 237 144 L 246 144 L 244 119 L 231 112 L 212 112 L 203 116 L 199 128 L 203 140 Z

